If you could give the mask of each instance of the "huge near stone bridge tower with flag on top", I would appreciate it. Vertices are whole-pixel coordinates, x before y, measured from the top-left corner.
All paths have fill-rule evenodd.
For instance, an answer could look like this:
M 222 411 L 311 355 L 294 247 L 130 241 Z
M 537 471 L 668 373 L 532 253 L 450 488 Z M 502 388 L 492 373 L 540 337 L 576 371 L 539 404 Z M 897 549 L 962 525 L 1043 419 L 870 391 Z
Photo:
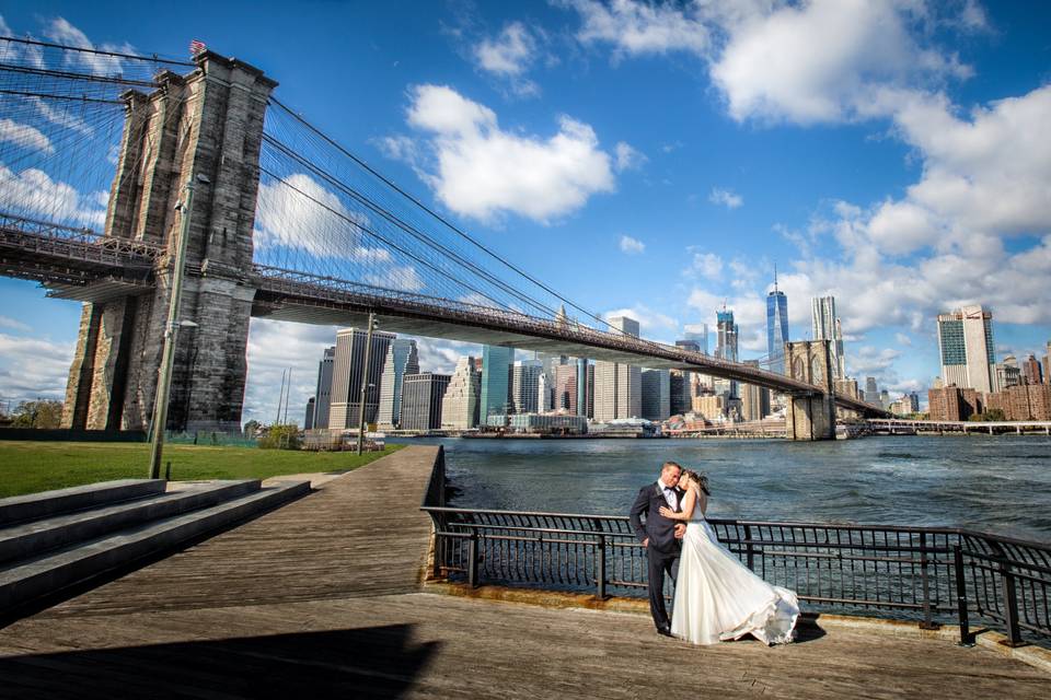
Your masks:
M 267 98 L 277 83 L 206 51 L 187 75 L 125 94 L 127 117 L 106 212 L 107 236 L 169 244 L 153 290 L 84 304 L 62 424 L 149 427 L 171 300 L 175 206 L 193 182 L 186 279 L 169 430 L 240 431 L 244 401 L 252 231 Z M 192 322 L 194 325 L 187 325 Z

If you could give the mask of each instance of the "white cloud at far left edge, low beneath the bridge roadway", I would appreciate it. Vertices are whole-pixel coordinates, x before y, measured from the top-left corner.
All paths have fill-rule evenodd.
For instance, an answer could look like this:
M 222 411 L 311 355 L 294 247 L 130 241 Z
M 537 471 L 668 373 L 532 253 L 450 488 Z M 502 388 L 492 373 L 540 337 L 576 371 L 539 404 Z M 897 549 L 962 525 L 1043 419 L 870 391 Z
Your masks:
M 13 324 L 9 327 L 21 330 Z M 12 408 L 37 398 L 62 400 L 72 359 L 71 342 L 0 332 L 0 397 L 10 400 Z

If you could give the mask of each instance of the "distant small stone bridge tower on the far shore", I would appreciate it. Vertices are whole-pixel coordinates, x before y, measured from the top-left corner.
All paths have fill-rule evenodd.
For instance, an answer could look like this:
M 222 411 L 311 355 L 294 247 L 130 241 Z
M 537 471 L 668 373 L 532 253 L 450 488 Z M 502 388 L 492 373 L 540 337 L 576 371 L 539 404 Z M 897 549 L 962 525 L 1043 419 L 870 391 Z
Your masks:
M 794 380 L 824 389 L 821 394 L 789 398 L 785 436 L 798 441 L 835 440 L 835 397 L 829 341 L 786 342 L 785 360 Z

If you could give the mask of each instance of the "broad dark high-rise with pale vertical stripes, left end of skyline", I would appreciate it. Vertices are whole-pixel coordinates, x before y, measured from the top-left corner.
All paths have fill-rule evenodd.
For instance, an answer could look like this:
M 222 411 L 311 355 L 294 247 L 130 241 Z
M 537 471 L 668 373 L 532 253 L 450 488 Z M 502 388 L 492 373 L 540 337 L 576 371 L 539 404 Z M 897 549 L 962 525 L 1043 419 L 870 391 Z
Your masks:
M 376 421 L 380 407 L 380 377 L 388 348 L 395 336 L 382 330 L 372 331 L 369 366 L 365 366 L 368 331 L 362 328 L 343 328 L 336 332 L 336 353 L 332 364 L 332 406 L 328 410 L 328 430 L 358 427 L 361 383 L 365 382 L 365 422 Z

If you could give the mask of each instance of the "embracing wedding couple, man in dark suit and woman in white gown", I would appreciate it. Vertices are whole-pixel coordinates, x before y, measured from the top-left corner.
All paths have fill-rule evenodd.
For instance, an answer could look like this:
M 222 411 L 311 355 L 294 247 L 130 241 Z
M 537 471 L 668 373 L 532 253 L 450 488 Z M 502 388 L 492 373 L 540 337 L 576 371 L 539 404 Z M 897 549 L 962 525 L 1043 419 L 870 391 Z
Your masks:
M 766 644 L 795 637 L 796 594 L 774 586 L 716 539 L 704 518 L 711 495 L 703 474 L 666 462 L 656 483 L 643 487 L 631 521 L 649 558 L 649 609 L 657 631 L 694 644 L 752 634 Z M 665 576 L 675 584 L 672 616 Z

